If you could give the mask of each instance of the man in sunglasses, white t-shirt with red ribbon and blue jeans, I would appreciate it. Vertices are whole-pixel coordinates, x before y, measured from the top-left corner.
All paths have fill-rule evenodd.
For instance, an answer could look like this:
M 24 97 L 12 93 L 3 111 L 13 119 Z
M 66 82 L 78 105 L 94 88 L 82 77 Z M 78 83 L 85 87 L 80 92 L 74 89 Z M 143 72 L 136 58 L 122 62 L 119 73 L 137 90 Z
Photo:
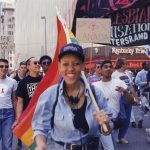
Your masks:
M 0 137 L 2 150 L 12 149 L 12 124 L 15 118 L 17 82 L 8 77 L 8 60 L 0 59 Z

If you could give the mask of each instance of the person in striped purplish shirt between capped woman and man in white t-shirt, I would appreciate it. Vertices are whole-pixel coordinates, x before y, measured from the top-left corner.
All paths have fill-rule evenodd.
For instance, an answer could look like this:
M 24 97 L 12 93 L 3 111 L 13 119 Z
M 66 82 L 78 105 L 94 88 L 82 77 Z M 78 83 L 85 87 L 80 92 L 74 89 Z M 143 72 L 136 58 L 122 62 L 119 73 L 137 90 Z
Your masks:
M 89 81 L 90 84 L 93 84 L 94 82 L 98 82 L 101 79 L 102 79 L 102 76 L 101 76 L 101 62 L 96 62 L 95 63 L 95 73 L 88 78 L 88 81 Z

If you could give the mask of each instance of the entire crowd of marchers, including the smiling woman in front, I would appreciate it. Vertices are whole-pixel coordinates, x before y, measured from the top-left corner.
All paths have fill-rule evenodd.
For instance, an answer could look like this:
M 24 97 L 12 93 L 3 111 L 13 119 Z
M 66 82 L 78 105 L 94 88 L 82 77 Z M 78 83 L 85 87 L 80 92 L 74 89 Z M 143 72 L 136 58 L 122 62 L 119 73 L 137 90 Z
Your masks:
M 85 60 L 81 46 L 65 45 L 58 59 L 61 80 L 40 95 L 32 120 L 36 150 L 115 150 L 116 143 L 128 144 L 130 123 L 136 127 L 132 106 L 141 108 L 139 128 L 150 110 L 150 63 L 144 62 L 133 77 L 126 58 L 118 58 L 115 66 L 111 60 L 104 60 L 96 62 L 95 72 L 86 74 L 85 79 L 81 73 Z M 0 59 L 2 150 L 12 150 L 12 130 L 51 63 L 47 55 L 30 57 L 10 75 L 8 60 Z M 150 129 L 146 132 L 149 136 Z M 15 150 L 21 148 L 18 139 Z

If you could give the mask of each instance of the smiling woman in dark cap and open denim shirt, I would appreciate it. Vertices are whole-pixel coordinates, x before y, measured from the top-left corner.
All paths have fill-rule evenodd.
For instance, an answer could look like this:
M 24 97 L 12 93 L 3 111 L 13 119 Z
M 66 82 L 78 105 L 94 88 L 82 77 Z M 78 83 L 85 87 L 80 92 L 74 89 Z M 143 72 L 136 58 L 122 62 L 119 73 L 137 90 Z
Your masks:
M 67 44 L 59 54 L 59 85 L 49 87 L 39 97 L 32 120 L 37 150 L 91 150 L 91 139 L 102 124 L 109 124 L 111 110 L 102 92 L 94 87 L 100 111 L 96 111 L 81 77 L 84 53 L 81 46 Z M 98 140 L 97 140 L 98 141 Z M 96 144 L 94 149 L 98 150 Z

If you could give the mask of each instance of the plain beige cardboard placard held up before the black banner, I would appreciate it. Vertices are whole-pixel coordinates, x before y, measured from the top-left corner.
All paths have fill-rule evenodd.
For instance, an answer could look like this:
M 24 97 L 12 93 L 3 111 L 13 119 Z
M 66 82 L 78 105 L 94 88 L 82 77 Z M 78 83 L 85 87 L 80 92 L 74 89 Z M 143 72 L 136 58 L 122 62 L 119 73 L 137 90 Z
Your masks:
M 78 18 L 76 37 L 81 43 L 110 43 L 110 19 Z

